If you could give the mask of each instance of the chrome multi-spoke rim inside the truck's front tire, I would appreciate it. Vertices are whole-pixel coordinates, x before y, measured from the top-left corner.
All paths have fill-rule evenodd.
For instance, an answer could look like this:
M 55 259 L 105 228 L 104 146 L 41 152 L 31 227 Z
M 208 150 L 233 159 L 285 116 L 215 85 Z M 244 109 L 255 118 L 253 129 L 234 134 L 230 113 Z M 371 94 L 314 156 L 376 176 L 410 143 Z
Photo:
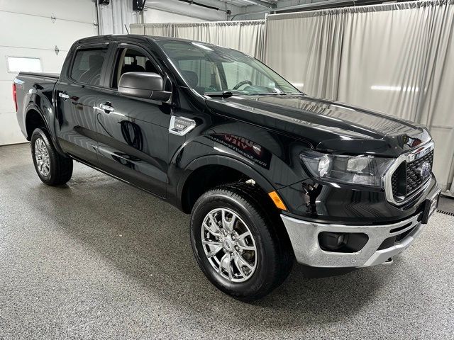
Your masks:
M 253 276 L 257 247 L 250 229 L 236 212 L 211 210 L 202 222 L 201 243 L 209 263 L 223 278 L 244 282 Z

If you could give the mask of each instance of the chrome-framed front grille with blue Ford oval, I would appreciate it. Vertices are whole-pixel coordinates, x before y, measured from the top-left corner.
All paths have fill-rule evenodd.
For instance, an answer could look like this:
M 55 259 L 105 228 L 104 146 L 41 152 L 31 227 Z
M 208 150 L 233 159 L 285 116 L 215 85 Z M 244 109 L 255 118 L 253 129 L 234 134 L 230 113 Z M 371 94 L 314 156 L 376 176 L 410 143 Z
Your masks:
M 402 205 L 415 198 L 431 179 L 433 142 L 402 154 L 384 176 L 387 200 Z

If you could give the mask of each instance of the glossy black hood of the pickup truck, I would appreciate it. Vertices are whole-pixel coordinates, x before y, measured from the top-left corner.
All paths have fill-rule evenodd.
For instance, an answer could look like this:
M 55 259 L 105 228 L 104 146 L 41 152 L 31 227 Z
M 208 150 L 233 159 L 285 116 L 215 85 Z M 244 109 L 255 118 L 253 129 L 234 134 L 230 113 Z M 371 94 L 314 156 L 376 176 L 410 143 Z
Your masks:
M 426 128 L 345 103 L 302 94 L 206 97 L 211 111 L 259 125 L 323 152 L 396 157 L 431 140 Z

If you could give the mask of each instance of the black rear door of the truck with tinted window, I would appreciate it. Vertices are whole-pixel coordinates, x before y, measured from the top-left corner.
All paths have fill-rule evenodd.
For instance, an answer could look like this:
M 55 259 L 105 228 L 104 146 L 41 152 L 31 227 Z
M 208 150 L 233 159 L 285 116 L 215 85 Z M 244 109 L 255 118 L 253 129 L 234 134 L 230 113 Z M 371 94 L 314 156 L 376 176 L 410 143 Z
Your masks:
M 96 97 L 99 96 L 109 55 L 109 44 L 80 45 L 67 74 L 55 86 L 57 137 L 65 152 L 94 166 L 97 161 Z

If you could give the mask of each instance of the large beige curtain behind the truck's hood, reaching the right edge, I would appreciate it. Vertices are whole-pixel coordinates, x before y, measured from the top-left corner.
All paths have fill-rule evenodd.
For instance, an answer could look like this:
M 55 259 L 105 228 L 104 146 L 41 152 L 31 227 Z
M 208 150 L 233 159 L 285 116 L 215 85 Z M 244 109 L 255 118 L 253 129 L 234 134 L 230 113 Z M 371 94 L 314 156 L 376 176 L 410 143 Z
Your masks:
M 453 182 L 453 1 L 335 8 L 267 17 L 264 61 L 311 96 L 427 125 L 434 172 Z

